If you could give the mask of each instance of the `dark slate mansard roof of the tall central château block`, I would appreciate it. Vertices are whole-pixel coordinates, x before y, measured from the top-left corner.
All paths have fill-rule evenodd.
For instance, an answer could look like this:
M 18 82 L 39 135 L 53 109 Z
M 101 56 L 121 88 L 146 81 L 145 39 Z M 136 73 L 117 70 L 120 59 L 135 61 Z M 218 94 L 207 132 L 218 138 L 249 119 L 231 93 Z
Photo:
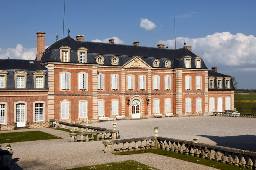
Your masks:
M 70 63 L 79 63 L 77 57 L 77 50 L 81 47 L 87 48 L 87 64 L 98 64 L 95 57 L 102 55 L 104 57 L 104 65 L 112 66 L 110 58 L 117 56 L 119 65 L 122 66 L 134 56 L 140 57 L 148 65 L 153 67 L 152 60 L 158 59 L 160 61 L 159 68 L 165 68 L 165 60 L 171 61 L 171 68 L 186 68 L 184 64 L 184 57 L 191 57 L 191 68 L 196 68 L 194 59 L 197 57 L 194 53 L 190 52 L 187 48 L 179 49 L 166 49 L 155 47 L 143 47 L 134 45 L 122 45 L 114 43 L 99 43 L 88 41 L 76 41 L 71 37 L 65 37 L 43 52 L 41 61 L 45 62 L 61 62 L 59 49 L 62 46 L 70 47 Z M 203 59 L 201 60 L 201 68 L 208 69 Z

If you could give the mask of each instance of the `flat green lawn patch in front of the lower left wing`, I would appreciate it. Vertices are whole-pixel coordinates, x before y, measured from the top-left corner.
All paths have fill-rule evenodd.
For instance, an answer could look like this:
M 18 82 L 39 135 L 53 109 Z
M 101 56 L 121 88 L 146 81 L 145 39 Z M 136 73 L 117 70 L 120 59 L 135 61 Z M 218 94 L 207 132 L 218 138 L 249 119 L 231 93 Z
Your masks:
M 48 140 L 48 139 L 62 139 L 62 138 L 45 133 L 45 132 L 41 132 L 41 131 L 12 132 L 12 133 L 0 134 L 0 144 L 21 142 L 21 141 L 33 141 L 33 140 Z

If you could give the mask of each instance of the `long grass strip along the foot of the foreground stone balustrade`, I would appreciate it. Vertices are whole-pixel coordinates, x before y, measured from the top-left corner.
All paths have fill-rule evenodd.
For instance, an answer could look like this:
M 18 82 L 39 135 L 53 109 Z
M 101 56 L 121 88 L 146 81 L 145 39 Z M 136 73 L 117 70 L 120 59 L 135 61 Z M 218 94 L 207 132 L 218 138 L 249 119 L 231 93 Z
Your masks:
M 232 165 L 228 165 L 228 164 L 224 164 L 224 163 L 220 163 L 220 162 L 215 162 L 212 160 L 191 157 L 191 156 L 187 156 L 184 154 L 176 154 L 174 152 L 161 150 L 161 149 L 145 149 L 145 150 L 137 150 L 137 151 L 130 151 L 130 152 L 120 152 L 120 153 L 115 153 L 115 155 L 132 155 L 132 154 L 143 154 L 143 153 L 164 155 L 164 156 L 181 159 L 181 160 L 185 160 L 188 162 L 198 163 L 201 165 L 205 165 L 208 167 L 213 167 L 213 168 L 217 168 L 217 169 L 221 169 L 221 170 L 246 170 L 246 168 L 236 167 L 236 166 L 232 166 Z

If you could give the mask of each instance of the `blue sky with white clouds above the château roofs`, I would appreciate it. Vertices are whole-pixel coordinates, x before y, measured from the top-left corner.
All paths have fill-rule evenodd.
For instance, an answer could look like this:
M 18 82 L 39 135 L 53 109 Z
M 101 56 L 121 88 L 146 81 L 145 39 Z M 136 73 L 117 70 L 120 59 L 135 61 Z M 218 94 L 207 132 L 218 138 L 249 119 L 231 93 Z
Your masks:
M 235 76 L 238 88 L 256 89 L 256 1 L 71 1 L 66 0 L 64 37 L 156 47 L 192 46 L 208 68 Z M 33 59 L 36 32 L 46 46 L 62 38 L 64 0 L 2 1 L 0 58 Z

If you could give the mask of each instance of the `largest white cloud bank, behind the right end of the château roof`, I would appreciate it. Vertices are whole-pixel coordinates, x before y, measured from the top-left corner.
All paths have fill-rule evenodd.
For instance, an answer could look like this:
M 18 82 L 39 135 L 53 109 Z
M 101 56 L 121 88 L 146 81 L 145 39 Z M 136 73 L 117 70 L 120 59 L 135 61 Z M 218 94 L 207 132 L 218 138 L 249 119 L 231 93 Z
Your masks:
M 202 38 L 177 37 L 176 48 L 192 46 L 192 52 L 201 56 L 207 63 L 224 66 L 256 65 L 256 37 L 242 33 L 214 33 Z M 175 48 L 174 39 L 158 41 Z

